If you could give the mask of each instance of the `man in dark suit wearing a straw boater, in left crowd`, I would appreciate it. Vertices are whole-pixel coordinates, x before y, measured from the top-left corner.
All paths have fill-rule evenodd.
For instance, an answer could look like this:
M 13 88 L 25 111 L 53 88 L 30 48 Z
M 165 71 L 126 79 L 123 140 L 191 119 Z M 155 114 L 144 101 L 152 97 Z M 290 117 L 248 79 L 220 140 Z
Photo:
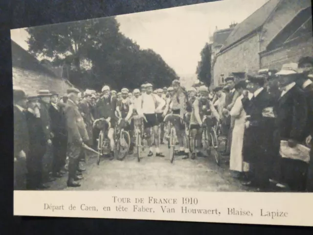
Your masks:
M 46 152 L 43 159 L 43 181 L 52 182 L 55 180 L 50 173 L 52 173 L 53 149 L 52 138 L 53 133 L 51 130 L 51 118 L 49 115 L 51 93 L 49 90 L 40 90 L 37 93 L 39 97 L 39 111 L 42 119 L 42 124 L 45 133 Z

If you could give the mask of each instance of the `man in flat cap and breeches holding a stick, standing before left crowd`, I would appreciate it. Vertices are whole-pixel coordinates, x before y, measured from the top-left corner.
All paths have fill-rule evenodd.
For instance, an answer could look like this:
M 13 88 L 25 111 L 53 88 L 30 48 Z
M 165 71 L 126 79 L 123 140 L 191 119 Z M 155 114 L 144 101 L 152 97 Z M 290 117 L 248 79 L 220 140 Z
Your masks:
M 81 180 L 82 177 L 77 176 L 76 172 L 79 168 L 82 144 L 89 141 L 84 119 L 77 106 L 78 93 L 79 90 L 75 88 L 67 90 L 68 100 L 64 110 L 67 121 L 67 154 L 69 159 L 67 187 L 80 186 L 77 181 Z

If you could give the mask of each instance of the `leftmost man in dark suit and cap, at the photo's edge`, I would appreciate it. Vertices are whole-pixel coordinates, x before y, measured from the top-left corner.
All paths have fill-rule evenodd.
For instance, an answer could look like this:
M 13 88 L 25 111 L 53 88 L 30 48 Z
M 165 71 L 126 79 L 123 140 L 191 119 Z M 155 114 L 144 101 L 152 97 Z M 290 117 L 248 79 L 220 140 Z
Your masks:
M 14 89 L 14 190 L 26 189 L 26 157 L 29 152 L 29 134 L 24 112 L 26 102 L 25 92 Z

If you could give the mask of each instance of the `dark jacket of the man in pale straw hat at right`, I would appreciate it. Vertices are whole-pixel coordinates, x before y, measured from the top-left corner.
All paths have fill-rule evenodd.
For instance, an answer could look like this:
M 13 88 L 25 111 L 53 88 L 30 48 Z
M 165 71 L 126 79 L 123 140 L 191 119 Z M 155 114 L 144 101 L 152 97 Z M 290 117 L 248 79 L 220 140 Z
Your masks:
M 306 138 L 308 104 L 303 90 L 297 85 L 278 99 L 275 107 L 281 139 L 302 142 Z

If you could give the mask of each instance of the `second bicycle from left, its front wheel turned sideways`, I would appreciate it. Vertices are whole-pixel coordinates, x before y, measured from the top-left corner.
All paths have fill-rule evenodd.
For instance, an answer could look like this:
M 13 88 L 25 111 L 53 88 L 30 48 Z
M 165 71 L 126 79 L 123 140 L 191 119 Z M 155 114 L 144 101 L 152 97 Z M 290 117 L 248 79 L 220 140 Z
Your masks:
M 123 160 L 129 152 L 131 146 L 131 137 L 128 131 L 125 130 L 126 122 L 122 123 L 123 118 L 117 121 L 117 125 L 114 130 L 114 142 L 115 142 L 115 156 L 119 156 L 123 152 L 122 158 L 117 157 L 118 160 Z

